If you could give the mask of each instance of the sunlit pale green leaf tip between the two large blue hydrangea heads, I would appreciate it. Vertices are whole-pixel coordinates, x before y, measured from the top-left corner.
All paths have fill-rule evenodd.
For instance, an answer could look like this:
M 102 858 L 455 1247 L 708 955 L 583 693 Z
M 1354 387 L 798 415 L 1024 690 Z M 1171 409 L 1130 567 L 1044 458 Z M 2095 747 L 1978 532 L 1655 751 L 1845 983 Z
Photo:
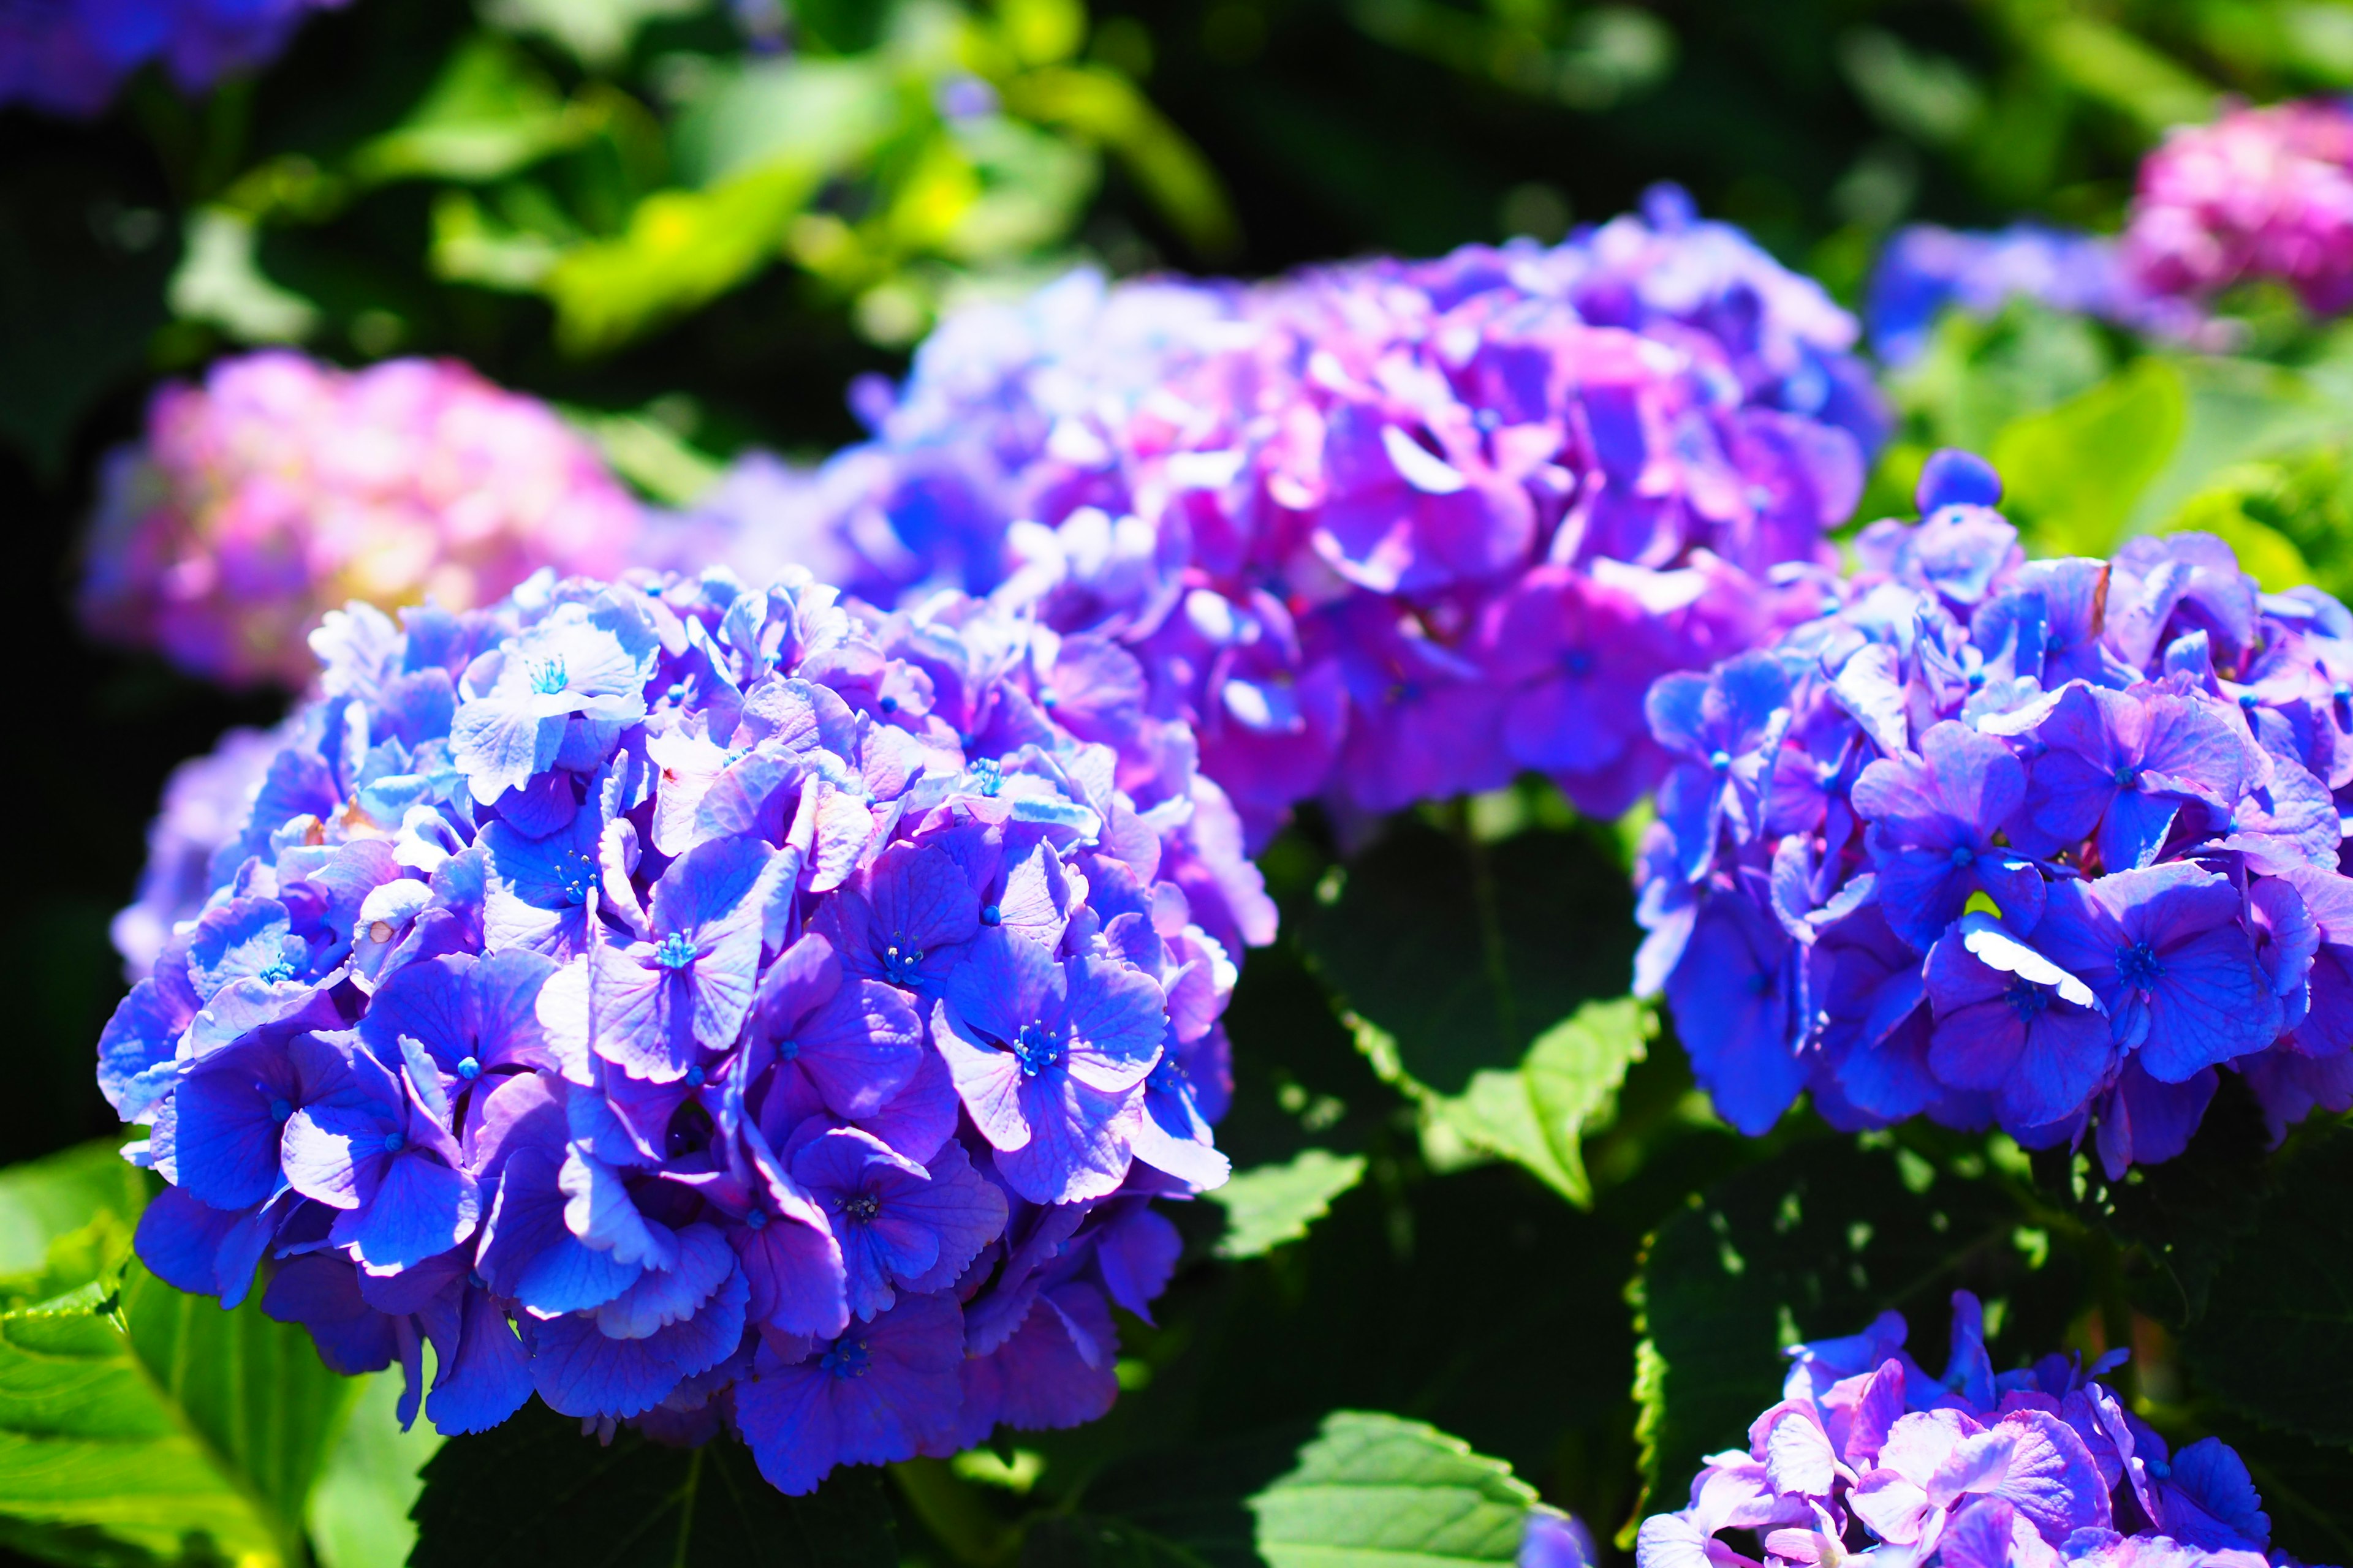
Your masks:
M 1473 1150 L 1527 1166 L 1572 1204 L 1593 1201 L 1584 1133 L 1642 1060 L 1657 1016 L 1633 997 L 1588 1001 L 1527 1048 L 1513 1072 L 1482 1067 L 1459 1095 L 1426 1095 L 1424 1112 Z

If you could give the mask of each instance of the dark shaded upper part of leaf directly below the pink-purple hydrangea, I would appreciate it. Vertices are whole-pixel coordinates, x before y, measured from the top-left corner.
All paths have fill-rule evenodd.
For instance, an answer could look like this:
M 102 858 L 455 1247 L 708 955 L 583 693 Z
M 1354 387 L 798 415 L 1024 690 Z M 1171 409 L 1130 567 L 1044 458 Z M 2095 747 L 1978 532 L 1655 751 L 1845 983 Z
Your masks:
M 1546 1030 L 1621 997 L 1633 971 L 1633 896 L 1591 832 L 1478 842 L 1400 818 L 1329 891 L 1301 929 L 1308 957 L 1393 1041 L 1393 1072 L 1440 1095 L 1482 1067 L 1515 1072 Z

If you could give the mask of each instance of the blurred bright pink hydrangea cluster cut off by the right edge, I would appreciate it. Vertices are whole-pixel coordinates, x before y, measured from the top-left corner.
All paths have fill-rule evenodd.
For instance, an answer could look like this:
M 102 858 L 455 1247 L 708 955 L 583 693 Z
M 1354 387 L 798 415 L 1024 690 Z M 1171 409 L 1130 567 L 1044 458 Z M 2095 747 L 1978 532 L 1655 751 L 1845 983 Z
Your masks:
M 2155 289 L 2273 277 L 2315 315 L 2353 308 L 2353 101 L 2235 108 L 2141 162 L 2127 263 Z

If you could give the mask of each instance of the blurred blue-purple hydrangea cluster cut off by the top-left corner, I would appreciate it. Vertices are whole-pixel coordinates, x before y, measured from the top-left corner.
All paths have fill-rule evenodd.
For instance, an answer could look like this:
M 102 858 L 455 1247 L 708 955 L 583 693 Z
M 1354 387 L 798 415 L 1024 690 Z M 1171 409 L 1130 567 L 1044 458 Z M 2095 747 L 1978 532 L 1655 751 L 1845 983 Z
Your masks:
M 94 115 L 122 78 L 160 61 L 202 92 L 275 56 L 304 16 L 344 0 L 9 0 L 0 7 L 0 106 Z

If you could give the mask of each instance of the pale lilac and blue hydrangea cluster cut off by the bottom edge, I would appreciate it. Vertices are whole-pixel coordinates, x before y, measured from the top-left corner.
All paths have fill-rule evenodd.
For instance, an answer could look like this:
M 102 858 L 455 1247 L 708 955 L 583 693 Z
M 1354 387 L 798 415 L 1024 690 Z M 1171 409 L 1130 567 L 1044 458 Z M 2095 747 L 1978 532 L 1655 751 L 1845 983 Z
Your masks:
M 1929 1378 L 1904 1314 L 1795 1345 L 1781 1403 L 1718 1453 L 1692 1502 L 1652 1514 L 1638 1568 L 1817 1568 L 1885 1547 L 1946 1568 L 2266 1568 L 2271 1516 L 2245 1460 L 2207 1436 L 2174 1453 L 2101 1373 L 2115 1349 L 1995 1373 L 1984 1309 L 1953 1295 L 1953 1354 Z M 2285 1561 L 2285 1559 L 2280 1559 Z

